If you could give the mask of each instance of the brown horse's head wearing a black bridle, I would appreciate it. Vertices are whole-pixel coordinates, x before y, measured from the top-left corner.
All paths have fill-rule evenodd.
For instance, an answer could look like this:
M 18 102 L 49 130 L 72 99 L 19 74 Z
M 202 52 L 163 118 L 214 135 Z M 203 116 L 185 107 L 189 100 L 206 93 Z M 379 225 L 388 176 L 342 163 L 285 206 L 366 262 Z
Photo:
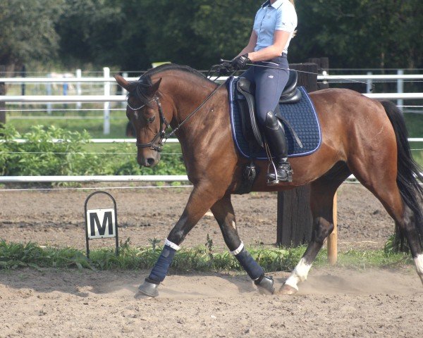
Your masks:
M 161 79 L 152 83 L 150 77 L 128 82 L 120 75 L 116 82 L 128 91 L 126 116 L 135 127 L 137 137 L 137 161 L 145 167 L 154 167 L 160 161 L 161 140 L 168 127 L 160 103 Z

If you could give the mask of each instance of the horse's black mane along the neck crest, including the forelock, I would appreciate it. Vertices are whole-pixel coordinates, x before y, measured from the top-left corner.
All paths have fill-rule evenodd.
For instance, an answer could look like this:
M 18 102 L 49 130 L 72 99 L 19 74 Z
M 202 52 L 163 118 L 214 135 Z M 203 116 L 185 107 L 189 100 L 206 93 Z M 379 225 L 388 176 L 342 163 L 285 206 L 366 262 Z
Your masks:
M 191 68 L 188 65 L 176 65 L 175 63 L 165 63 L 164 65 L 159 65 L 156 68 L 147 70 L 147 72 L 142 74 L 140 79 L 138 79 L 137 81 L 130 82 L 128 96 L 134 96 L 140 101 L 141 104 L 147 104 L 152 99 L 147 92 L 148 88 L 151 87 L 153 84 L 152 75 L 159 74 L 161 72 L 164 72 L 165 70 L 180 70 L 182 72 L 195 75 L 202 80 L 212 82 L 212 80 L 207 79 L 204 74 L 200 73 L 194 68 Z

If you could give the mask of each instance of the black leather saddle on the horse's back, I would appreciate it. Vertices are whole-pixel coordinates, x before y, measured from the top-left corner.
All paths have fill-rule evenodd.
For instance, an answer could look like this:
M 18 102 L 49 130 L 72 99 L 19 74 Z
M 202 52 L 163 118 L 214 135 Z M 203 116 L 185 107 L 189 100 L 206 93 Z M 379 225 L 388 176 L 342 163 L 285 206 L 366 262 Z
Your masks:
M 279 104 L 296 104 L 302 98 L 302 93 L 297 87 L 298 74 L 295 70 L 289 70 L 288 82 L 283 89 L 281 97 L 279 98 Z M 238 92 L 238 108 L 240 109 L 241 123 L 243 127 L 243 134 L 247 142 L 250 144 L 251 149 L 255 149 L 255 142 L 264 148 L 264 140 L 262 133 L 260 132 L 259 125 L 256 119 L 256 108 L 255 108 L 255 84 L 252 84 L 250 80 L 245 77 L 240 77 L 236 83 L 236 89 Z M 242 97 L 239 97 L 239 94 Z M 284 119 L 279 111 L 279 105 L 276 108 L 276 117 L 281 120 L 281 123 L 287 125 L 293 134 L 295 140 L 302 147 L 301 141 L 297 134 L 290 126 L 288 121 Z

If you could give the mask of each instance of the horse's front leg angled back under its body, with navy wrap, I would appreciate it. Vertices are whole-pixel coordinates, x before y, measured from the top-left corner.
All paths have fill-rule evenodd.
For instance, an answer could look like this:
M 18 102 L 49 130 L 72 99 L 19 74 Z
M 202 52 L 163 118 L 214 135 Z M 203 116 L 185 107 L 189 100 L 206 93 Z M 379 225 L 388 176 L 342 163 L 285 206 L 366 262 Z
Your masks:
M 255 282 L 259 288 L 259 292 L 273 294 L 274 293 L 274 281 L 270 277 L 264 275 L 264 270 L 255 261 L 250 253 L 245 249 L 243 242 L 241 242 L 238 236 L 238 230 L 236 228 L 235 213 L 233 212 L 233 206 L 231 203 L 231 195 L 226 195 L 219 201 L 216 201 L 214 206 L 211 208 L 214 218 L 216 218 L 223 239 L 225 240 L 228 249 L 231 254 L 240 262 L 240 265 L 244 268 L 250 278 Z

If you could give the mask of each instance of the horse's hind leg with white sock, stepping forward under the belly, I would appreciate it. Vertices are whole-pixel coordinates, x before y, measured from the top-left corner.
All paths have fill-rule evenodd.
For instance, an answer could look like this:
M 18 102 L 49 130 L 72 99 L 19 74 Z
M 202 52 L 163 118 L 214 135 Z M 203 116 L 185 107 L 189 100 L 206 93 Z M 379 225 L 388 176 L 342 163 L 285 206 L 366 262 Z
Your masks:
M 298 283 L 307 279 L 312 263 L 323 246 L 324 239 L 333 231 L 333 196 L 348 175 L 348 169 L 345 165 L 340 164 L 333 168 L 332 175 L 328 174 L 312 182 L 310 193 L 310 206 L 313 215 L 312 239 L 300 262 L 295 266 L 293 273 L 278 293 L 294 294 L 298 291 Z

